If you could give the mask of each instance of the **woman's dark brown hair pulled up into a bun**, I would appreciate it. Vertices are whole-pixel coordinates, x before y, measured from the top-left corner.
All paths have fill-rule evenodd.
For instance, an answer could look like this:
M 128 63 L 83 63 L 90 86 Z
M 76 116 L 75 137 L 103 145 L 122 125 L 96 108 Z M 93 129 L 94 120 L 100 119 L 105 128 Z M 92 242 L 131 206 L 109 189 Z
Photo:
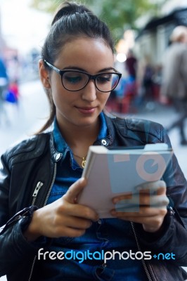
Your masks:
M 58 7 L 53 17 L 51 30 L 41 50 L 41 58 L 53 64 L 63 46 L 79 37 L 101 38 L 114 53 L 114 42 L 105 22 L 99 20 L 86 6 L 65 1 Z M 44 65 L 50 72 L 51 68 L 46 63 Z M 50 104 L 50 116 L 39 133 L 48 129 L 56 116 L 51 91 L 46 90 L 46 95 Z

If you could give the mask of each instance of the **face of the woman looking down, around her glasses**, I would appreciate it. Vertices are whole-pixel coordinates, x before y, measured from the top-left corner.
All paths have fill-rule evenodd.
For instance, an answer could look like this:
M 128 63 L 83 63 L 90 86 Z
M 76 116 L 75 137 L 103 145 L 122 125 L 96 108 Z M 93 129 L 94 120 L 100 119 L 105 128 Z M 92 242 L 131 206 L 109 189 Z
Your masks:
M 89 74 L 112 72 L 114 58 L 110 47 L 101 39 L 80 38 L 68 42 L 53 63 L 60 70 L 82 70 Z M 58 124 L 88 126 L 96 124 L 110 93 L 96 89 L 93 80 L 79 91 L 67 91 L 60 75 L 50 74 L 51 92 L 56 105 Z

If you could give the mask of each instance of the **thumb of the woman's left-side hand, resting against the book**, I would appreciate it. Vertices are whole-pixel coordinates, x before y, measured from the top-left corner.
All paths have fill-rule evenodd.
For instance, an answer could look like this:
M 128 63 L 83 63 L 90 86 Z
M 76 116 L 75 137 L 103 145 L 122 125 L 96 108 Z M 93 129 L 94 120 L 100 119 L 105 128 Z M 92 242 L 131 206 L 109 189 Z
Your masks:
M 70 186 L 63 198 L 69 203 L 75 203 L 77 200 L 77 196 L 83 190 L 85 185 L 86 178 L 79 178 L 78 181 L 75 181 L 75 183 Z

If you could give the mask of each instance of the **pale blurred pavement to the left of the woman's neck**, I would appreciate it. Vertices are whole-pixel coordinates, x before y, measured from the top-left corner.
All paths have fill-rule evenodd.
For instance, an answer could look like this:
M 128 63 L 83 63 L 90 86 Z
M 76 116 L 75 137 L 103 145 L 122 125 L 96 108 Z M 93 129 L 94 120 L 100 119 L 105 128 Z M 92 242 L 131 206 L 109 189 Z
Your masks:
M 13 143 L 32 136 L 49 116 L 48 100 L 40 81 L 20 86 L 18 107 L 6 103 L 6 116 L 0 120 L 0 155 Z

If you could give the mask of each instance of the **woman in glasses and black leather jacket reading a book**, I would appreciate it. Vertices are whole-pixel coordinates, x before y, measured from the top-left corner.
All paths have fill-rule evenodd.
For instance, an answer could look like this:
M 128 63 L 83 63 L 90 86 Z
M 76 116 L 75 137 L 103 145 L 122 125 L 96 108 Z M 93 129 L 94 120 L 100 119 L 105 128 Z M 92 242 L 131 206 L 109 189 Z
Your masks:
M 104 114 L 110 91 L 121 77 L 113 67 L 113 53 L 108 27 L 96 15 L 72 2 L 59 8 L 39 61 L 51 116 L 37 136 L 1 157 L 0 221 L 5 226 L 0 273 L 8 280 L 184 278 L 180 266 L 187 260 L 187 195 L 176 157 L 163 181 L 151 187 L 157 188 L 155 202 L 162 198 L 160 208 L 149 206 L 148 186 L 140 191 L 138 213 L 113 209 L 114 218 L 98 219 L 93 209 L 77 204 L 86 186 L 81 176 L 90 145 L 170 145 L 160 124 Z M 51 124 L 53 130 L 44 133 Z M 131 253 L 131 258 L 105 263 L 100 253 L 112 250 Z M 169 253 L 176 259 L 134 259 L 138 251 Z

